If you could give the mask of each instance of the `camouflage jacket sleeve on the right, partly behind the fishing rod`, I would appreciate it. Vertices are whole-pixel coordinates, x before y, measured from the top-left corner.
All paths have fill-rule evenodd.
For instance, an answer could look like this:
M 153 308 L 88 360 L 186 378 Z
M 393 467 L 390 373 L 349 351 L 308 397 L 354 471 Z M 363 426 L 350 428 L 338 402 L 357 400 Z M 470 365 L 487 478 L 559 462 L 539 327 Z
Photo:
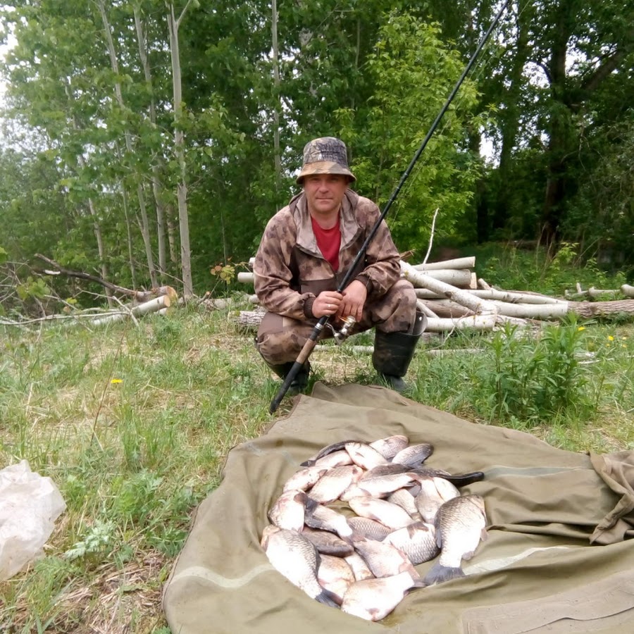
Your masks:
M 367 236 L 376 224 L 380 211 L 371 200 L 360 198 L 357 218 Z M 368 297 L 382 297 L 401 276 L 399 251 L 392 240 L 390 229 L 382 220 L 366 251 L 366 264 L 356 276 L 368 289 Z

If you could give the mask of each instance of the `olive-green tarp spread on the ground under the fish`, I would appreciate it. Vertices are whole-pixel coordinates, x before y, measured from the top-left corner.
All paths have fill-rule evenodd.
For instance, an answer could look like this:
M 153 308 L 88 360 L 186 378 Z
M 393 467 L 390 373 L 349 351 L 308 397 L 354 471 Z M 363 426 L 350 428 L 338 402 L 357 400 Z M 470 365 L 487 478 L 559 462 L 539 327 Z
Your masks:
M 338 440 L 404 434 L 430 442 L 428 466 L 484 471 L 489 537 L 465 578 L 409 593 L 370 623 L 320 604 L 259 545 L 283 483 Z M 555 449 L 515 430 L 469 423 L 381 387 L 317 383 L 290 416 L 228 455 L 168 579 L 173 634 L 519 634 L 634 632 L 634 452 Z M 433 562 L 417 566 L 421 576 Z

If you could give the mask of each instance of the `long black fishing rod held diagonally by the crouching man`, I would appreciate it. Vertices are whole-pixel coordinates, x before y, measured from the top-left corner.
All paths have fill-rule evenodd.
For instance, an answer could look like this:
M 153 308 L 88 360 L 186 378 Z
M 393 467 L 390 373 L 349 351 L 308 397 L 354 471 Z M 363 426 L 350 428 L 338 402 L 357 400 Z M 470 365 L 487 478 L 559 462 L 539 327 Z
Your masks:
M 473 67 L 475 60 L 478 58 L 478 56 L 480 56 L 480 52 L 484 48 L 485 44 L 487 43 L 487 40 L 489 39 L 495 27 L 497 26 L 499 19 L 502 18 L 502 14 L 504 13 L 504 11 L 506 11 L 506 7 L 509 6 L 510 2 L 511 0 L 504 1 L 502 8 L 498 11 L 490 27 L 487 29 L 487 32 L 485 33 L 483 38 L 480 40 L 478 47 L 475 49 L 475 51 L 473 51 L 473 55 L 471 56 L 471 59 L 468 61 L 466 67 L 464 68 L 462 72 L 462 75 L 460 75 L 459 80 L 456 82 L 456 85 L 454 86 L 454 89 L 452 90 L 451 94 L 449 94 L 449 97 L 447 97 L 447 101 L 445 101 L 445 105 L 442 106 L 442 108 L 440 109 L 440 112 L 438 113 L 437 117 L 432 123 L 431 128 L 429 129 L 429 132 L 427 133 L 427 135 L 425 135 L 425 138 L 423 139 L 421 146 L 418 147 L 418 150 L 416 150 L 416 154 L 414 154 L 414 158 L 411 159 L 409 166 L 407 166 L 407 169 L 404 171 L 401 177 L 401 180 L 399 180 L 399 184 L 394 189 L 394 192 L 392 192 L 390 199 L 387 201 L 387 203 L 385 203 L 385 207 L 383 208 L 383 211 L 381 212 L 378 220 L 373 226 L 371 232 L 368 233 L 368 237 L 366 237 L 365 242 L 363 242 L 363 244 L 361 245 L 361 249 L 359 249 L 359 253 L 357 253 L 356 256 L 354 257 L 354 260 L 352 261 L 352 264 L 349 266 L 347 273 L 344 275 L 344 278 L 341 280 L 340 285 L 337 287 L 337 292 L 339 293 L 343 292 L 343 290 L 347 287 L 347 285 L 351 281 L 350 278 L 352 278 L 352 274 L 355 272 L 357 265 L 359 264 L 359 262 L 361 262 L 361 259 L 366 255 L 368 244 L 370 244 L 370 242 L 372 241 L 373 237 L 378 231 L 378 228 L 380 227 L 380 224 L 383 222 L 383 220 L 385 220 L 385 216 L 387 216 L 387 212 L 390 211 L 390 207 L 392 206 L 392 203 L 394 202 L 394 200 L 396 200 L 397 196 L 399 195 L 399 192 L 401 191 L 401 188 L 403 187 L 404 182 L 409 177 L 411 170 L 414 169 L 414 166 L 416 165 L 416 162 L 418 161 L 418 159 L 421 157 L 421 154 L 423 154 L 423 150 L 425 149 L 425 147 L 427 147 L 429 139 L 432 137 L 433 133 L 438 127 L 438 124 L 440 123 L 440 120 L 442 119 L 442 117 L 445 116 L 445 113 L 447 112 L 447 109 L 449 108 L 452 101 L 454 100 L 454 97 L 456 96 L 456 93 L 460 89 L 462 82 L 464 82 L 466 76 L 468 75 L 469 71 Z M 324 315 L 323 317 L 319 319 L 319 321 L 315 325 L 315 328 L 313 328 L 313 332 L 311 332 L 311 336 L 308 338 L 308 340 L 306 340 L 304 347 L 299 351 L 296 361 L 293 363 L 293 365 L 290 368 L 290 371 L 287 373 L 284 379 L 284 382 L 282 383 L 282 385 L 280 386 L 280 389 L 278 390 L 278 393 L 275 394 L 275 398 L 271 401 L 271 406 L 269 406 L 268 408 L 268 411 L 271 414 L 273 414 L 273 412 L 275 412 L 275 410 L 278 409 L 278 406 L 282 402 L 282 399 L 284 398 L 294 378 L 297 376 L 297 373 L 304 366 L 304 362 L 306 361 L 306 359 L 308 359 L 309 356 L 311 356 L 311 352 L 313 352 L 313 349 L 316 346 L 317 341 L 319 340 L 319 337 L 321 337 L 323 329 L 326 323 L 328 323 L 328 319 L 330 319 L 330 316 L 328 315 Z

